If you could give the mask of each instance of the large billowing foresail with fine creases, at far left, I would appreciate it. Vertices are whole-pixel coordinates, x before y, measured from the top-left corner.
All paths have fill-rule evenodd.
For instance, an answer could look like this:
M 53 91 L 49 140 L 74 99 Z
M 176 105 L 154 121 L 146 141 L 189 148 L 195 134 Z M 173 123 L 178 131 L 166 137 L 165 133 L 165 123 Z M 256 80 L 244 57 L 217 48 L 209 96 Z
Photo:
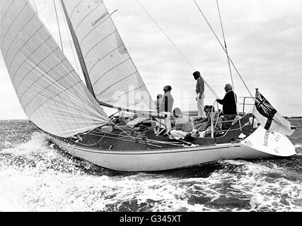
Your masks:
M 40 129 L 69 137 L 108 122 L 27 0 L 1 0 L 1 52 L 18 99 Z

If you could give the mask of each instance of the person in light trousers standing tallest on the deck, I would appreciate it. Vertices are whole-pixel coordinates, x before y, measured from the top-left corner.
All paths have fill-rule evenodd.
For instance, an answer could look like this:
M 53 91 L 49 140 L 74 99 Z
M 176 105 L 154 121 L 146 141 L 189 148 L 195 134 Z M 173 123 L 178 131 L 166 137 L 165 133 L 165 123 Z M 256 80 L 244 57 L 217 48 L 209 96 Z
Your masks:
M 198 117 L 196 120 L 204 119 L 206 115 L 204 114 L 204 79 L 200 76 L 199 71 L 195 71 L 193 73 L 194 79 L 197 81 L 196 83 L 196 101 L 197 101 L 197 109 L 198 109 Z

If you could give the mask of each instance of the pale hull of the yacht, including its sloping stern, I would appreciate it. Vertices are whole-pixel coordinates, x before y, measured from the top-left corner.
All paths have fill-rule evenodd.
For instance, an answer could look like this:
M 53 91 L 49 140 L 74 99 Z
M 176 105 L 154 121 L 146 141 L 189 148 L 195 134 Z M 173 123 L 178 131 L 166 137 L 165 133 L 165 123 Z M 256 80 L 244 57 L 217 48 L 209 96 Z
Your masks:
M 216 160 L 261 159 L 280 156 L 285 157 L 296 154 L 294 146 L 286 136 L 283 136 L 282 139 L 279 140 L 279 143 L 277 143 L 278 150 L 276 149 L 276 142 L 274 142 L 271 148 L 272 150 L 264 150 L 264 148 L 261 147 L 263 138 L 258 137 L 262 136 L 262 132 L 262 130 L 257 129 L 257 131 L 241 143 L 146 151 L 91 150 L 89 148 L 81 148 L 78 145 L 65 143 L 53 137 L 51 137 L 51 139 L 59 148 L 66 150 L 71 155 L 81 157 L 101 167 L 128 172 L 176 169 Z M 272 133 L 270 136 L 274 134 L 275 133 Z M 253 143 L 254 141 L 257 141 L 257 143 Z M 257 149 L 253 148 L 253 146 L 257 147 Z M 265 146 L 265 148 L 267 147 Z

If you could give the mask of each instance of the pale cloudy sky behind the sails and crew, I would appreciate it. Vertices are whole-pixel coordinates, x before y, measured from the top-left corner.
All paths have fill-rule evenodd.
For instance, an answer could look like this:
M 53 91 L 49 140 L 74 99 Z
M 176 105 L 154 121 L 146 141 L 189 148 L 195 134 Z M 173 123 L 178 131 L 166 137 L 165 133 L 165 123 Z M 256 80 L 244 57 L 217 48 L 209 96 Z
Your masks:
M 58 5 L 59 1 L 55 1 Z M 223 42 L 216 1 L 195 1 Z M 60 45 L 52 0 L 32 2 Z M 200 71 L 215 93 L 223 97 L 224 85 L 232 83 L 227 57 L 193 0 L 104 2 L 110 13 L 117 10 L 112 19 L 154 99 L 163 93 L 163 86 L 171 85 L 174 107 L 197 110 L 194 70 Z M 255 88 L 259 88 L 282 115 L 302 116 L 302 1 L 219 0 L 219 8 L 228 54 L 250 93 L 255 95 Z M 64 29 L 59 10 L 58 13 Z M 78 64 L 68 47 L 67 33 L 62 32 L 62 37 L 66 56 L 76 69 Z M 238 97 L 250 96 L 233 68 L 232 76 Z M 206 88 L 205 104 L 212 105 L 214 99 Z M 2 56 L 0 119 L 27 119 Z

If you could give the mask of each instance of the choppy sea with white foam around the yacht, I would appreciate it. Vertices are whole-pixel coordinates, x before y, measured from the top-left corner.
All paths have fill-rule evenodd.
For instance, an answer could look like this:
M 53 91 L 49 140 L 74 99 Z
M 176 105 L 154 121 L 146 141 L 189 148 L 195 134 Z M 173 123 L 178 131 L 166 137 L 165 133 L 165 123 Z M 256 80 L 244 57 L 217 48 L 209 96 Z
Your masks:
M 301 211 L 302 120 L 294 157 L 221 160 L 160 173 L 103 169 L 0 121 L 0 211 Z

